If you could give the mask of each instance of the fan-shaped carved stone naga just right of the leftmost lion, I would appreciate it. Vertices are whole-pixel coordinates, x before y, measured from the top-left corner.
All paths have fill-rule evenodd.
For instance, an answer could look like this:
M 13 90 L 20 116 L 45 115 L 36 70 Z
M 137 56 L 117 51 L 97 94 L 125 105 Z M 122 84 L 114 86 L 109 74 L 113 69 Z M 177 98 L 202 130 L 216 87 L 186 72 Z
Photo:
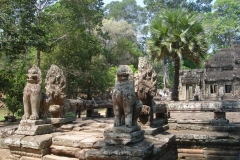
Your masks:
M 52 100 L 49 112 L 53 118 L 60 118 L 63 113 L 63 102 L 66 97 L 66 78 L 63 71 L 56 65 L 51 65 L 46 75 L 46 94 Z

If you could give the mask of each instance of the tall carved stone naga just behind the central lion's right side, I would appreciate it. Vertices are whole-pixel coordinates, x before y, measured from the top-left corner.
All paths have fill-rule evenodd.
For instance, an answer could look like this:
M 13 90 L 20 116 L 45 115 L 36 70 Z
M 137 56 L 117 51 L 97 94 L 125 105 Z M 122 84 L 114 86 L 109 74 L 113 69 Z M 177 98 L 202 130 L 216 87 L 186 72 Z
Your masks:
M 143 103 L 139 116 L 140 124 L 150 125 L 153 116 L 152 99 L 156 94 L 157 74 L 146 57 L 139 57 L 138 73 L 135 75 L 136 96 Z

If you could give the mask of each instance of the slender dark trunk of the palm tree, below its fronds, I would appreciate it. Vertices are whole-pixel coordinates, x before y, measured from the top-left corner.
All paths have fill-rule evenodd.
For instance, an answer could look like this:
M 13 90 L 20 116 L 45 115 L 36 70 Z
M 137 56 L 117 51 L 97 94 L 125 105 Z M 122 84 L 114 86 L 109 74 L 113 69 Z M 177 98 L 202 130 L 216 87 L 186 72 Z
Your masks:
M 172 92 L 172 100 L 178 101 L 178 86 L 179 86 L 179 69 L 180 58 L 177 53 L 174 53 L 174 86 Z

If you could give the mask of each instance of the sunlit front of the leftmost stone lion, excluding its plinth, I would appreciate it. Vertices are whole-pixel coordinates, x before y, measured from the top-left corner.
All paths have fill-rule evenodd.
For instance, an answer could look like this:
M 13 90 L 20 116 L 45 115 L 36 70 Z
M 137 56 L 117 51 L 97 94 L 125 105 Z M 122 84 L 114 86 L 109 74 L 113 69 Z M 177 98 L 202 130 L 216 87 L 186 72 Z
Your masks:
M 41 70 L 36 65 L 33 65 L 28 70 L 27 84 L 23 91 L 24 115 L 22 119 L 24 120 L 39 119 L 39 109 L 42 100 L 41 83 Z

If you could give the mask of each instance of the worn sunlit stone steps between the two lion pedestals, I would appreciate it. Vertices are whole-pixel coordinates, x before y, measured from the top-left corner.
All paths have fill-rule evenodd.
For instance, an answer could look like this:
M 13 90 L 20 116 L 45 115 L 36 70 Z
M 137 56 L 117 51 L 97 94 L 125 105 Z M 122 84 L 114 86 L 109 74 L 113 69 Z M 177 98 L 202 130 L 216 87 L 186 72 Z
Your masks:
M 52 154 L 43 156 L 43 160 L 85 160 L 88 152 L 104 146 L 103 132 L 109 127 L 110 124 L 91 123 L 91 120 L 62 126 L 67 132 L 53 136 Z

